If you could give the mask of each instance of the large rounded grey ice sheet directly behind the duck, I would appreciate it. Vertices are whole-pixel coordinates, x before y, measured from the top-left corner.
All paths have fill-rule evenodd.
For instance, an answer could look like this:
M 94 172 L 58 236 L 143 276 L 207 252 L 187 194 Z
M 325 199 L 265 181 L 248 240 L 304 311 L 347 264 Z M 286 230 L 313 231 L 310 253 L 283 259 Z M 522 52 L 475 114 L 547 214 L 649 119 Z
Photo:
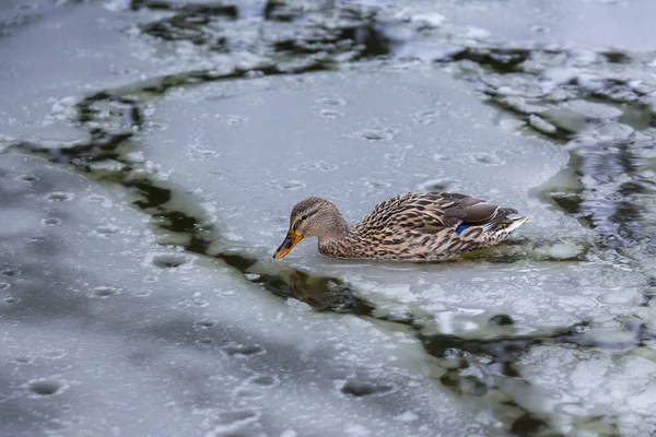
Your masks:
M 529 215 L 553 217 L 562 233 L 583 233 L 526 197 L 525 187 L 546 181 L 566 163 L 566 155 L 537 140 L 502 135 L 492 127 L 493 113 L 440 72 L 314 74 L 297 83 L 267 79 L 257 85 L 267 87 L 261 92 L 253 83 L 248 90 L 241 86 L 210 84 L 165 97 L 155 105 L 153 119 L 167 128 L 144 135 L 143 152 L 163 168 L 173 168 L 173 163 L 190 161 L 192 144 L 214 150 L 216 156 L 197 162 L 195 172 L 178 169 L 172 178 L 202 189 L 215 210 L 231 217 L 225 231 L 262 255 L 280 243 L 291 208 L 304 197 L 326 197 L 354 222 L 377 201 L 433 180 L 513 203 Z M 226 93 L 233 97 L 212 98 Z M 313 109 L 325 107 L 327 98 L 343 99 L 339 108 L 347 118 L 315 115 Z M 394 108 L 387 108 L 388 101 L 395 102 Z M 288 109 L 277 110 L 281 107 Z M 221 122 L 231 113 L 245 121 Z M 435 121 L 424 122 L 429 116 Z M 459 133 L 465 130 L 467 135 Z M 434 162 L 435 154 L 445 160 Z M 527 225 L 526 233 L 542 224 Z M 296 253 L 314 251 L 306 244 Z

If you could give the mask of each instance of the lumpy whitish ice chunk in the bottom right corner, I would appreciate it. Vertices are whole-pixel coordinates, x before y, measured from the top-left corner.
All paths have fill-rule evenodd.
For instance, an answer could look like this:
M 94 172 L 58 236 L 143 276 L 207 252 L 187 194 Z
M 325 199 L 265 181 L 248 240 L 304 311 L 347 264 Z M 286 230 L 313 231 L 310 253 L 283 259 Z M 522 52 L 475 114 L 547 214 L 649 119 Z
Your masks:
M 607 354 L 584 358 L 574 350 L 546 346 L 527 354 L 520 367 L 530 385 L 543 389 L 539 394 L 534 392 L 523 398 L 542 399 L 544 412 L 554 417 L 563 433 L 575 428 L 594 432 L 608 426 L 594 420 L 595 416 L 614 417 L 611 424 L 622 435 L 646 435 L 654 429 L 656 364 L 653 359 Z M 581 427 L 576 423 L 581 416 L 591 417 L 590 422 Z

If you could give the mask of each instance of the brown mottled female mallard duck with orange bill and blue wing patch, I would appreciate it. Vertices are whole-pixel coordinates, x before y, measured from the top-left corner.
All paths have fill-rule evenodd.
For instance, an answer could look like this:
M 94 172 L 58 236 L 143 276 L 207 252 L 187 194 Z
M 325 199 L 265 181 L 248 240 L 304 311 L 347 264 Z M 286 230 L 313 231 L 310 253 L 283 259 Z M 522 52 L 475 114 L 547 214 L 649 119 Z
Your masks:
M 305 237 L 319 238 L 319 252 L 335 258 L 443 261 L 506 239 L 528 218 L 517 211 L 448 192 L 409 192 L 378 203 L 349 226 L 328 200 L 296 203 L 281 259 Z

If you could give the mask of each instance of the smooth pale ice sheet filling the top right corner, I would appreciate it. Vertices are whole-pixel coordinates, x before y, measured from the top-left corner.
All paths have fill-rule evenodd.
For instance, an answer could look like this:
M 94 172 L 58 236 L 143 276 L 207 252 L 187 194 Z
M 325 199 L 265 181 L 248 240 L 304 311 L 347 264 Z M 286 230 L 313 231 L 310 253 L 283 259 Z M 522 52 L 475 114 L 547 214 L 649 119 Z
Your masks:
M 471 1 L 466 4 L 440 1 L 440 14 L 459 27 L 479 27 L 492 40 L 514 44 L 559 44 L 576 47 L 649 50 L 646 38 L 654 35 L 648 16 L 649 0 L 605 2 L 586 0 Z M 414 14 L 431 13 L 435 2 L 405 2 Z

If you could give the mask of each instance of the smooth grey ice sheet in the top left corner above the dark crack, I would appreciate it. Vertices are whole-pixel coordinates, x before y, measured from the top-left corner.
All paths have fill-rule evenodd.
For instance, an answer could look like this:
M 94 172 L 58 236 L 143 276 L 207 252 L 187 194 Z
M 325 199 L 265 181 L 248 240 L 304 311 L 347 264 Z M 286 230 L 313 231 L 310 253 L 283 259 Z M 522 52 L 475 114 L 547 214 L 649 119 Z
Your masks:
M 119 23 L 110 17 L 110 12 L 96 5 L 74 5 L 54 9 L 47 20 L 31 20 L 30 32 L 15 29 L 2 46 L 3 134 L 56 141 L 83 139 L 83 132 L 68 122 L 73 96 L 156 71 L 130 56 L 139 48 L 117 35 Z

